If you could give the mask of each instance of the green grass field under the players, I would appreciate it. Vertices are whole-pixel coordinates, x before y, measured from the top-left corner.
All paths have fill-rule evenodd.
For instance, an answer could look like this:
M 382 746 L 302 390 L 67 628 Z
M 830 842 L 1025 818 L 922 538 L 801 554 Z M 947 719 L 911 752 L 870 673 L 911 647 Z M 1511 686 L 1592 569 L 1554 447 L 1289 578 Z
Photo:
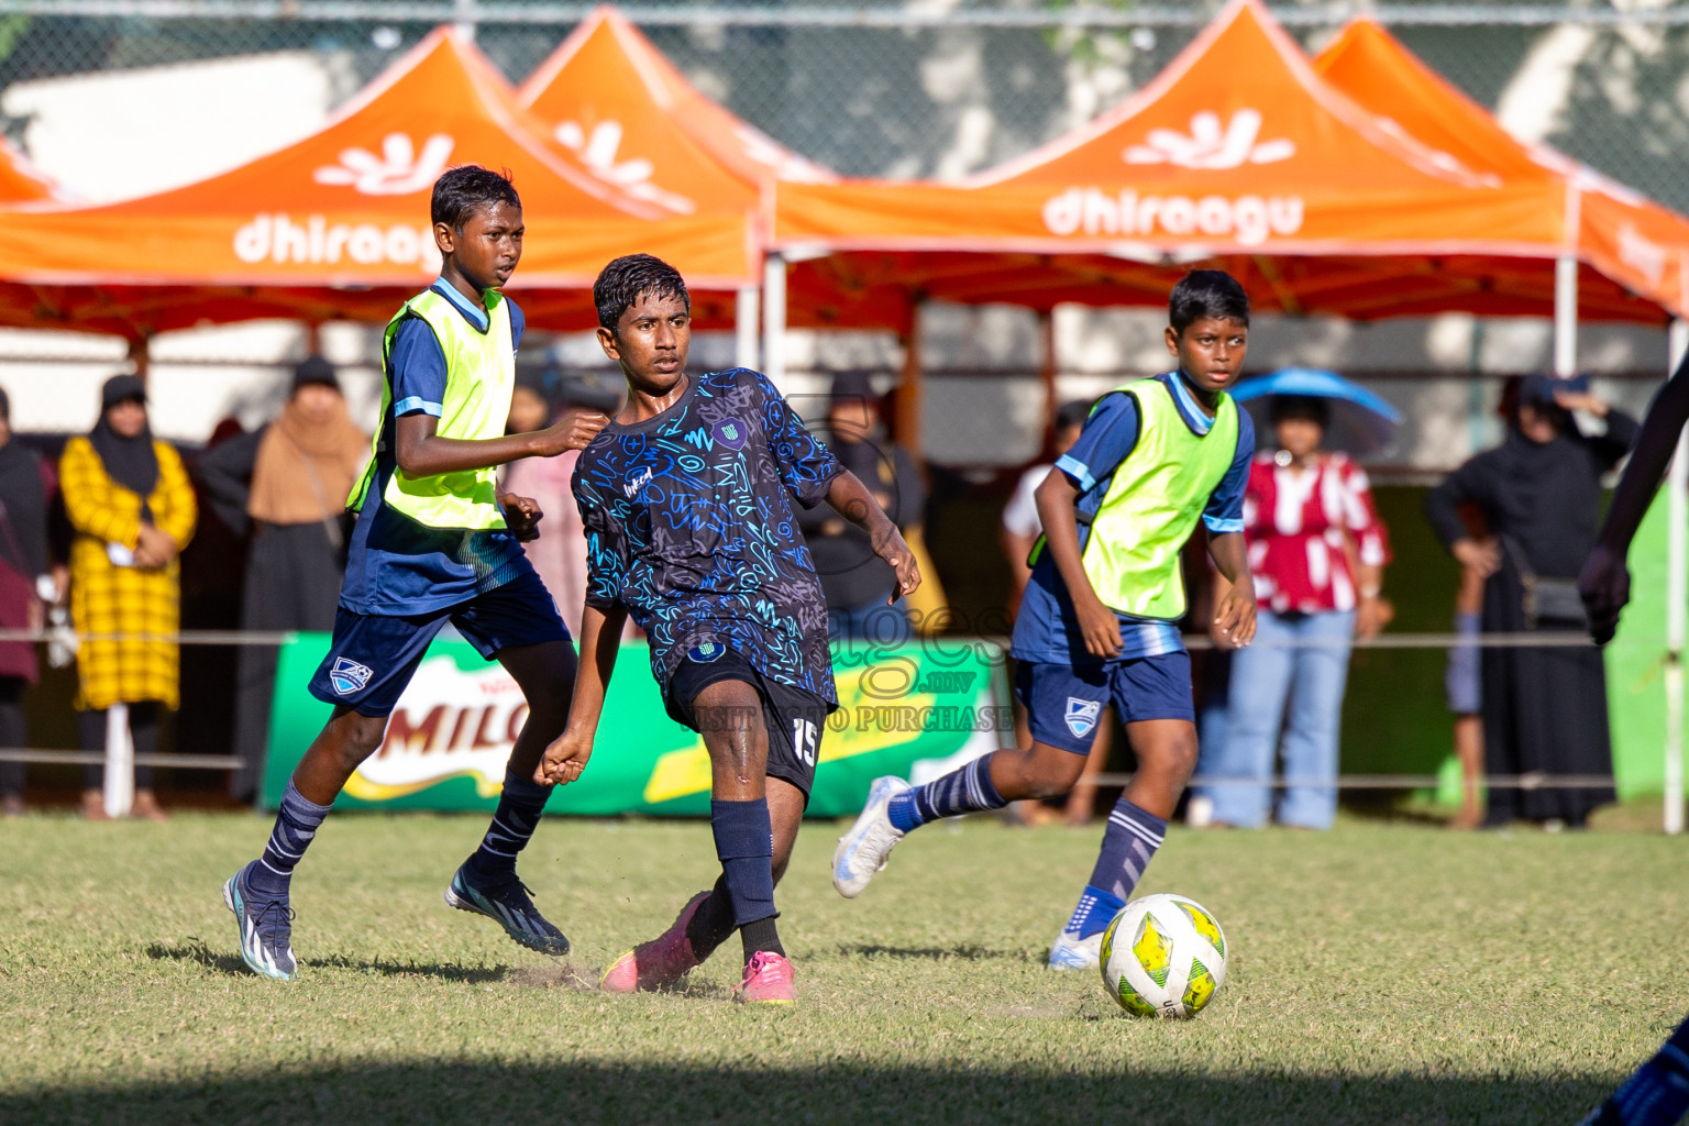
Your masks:
M 1689 1008 L 1689 841 L 1174 829 L 1143 891 L 1221 920 L 1187 1023 L 1042 967 L 1100 831 L 937 826 L 855 903 L 806 827 L 796 1011 L 593 989 L 714 874 L 701 822 L 540 827 L 529 954 L 441 890 L 478 817 L 339 815 L 294 881 L 294 983 L 235 955 L 221 880 L 267 824 L 0 822 L 0 1123 L 1574 1123 Z

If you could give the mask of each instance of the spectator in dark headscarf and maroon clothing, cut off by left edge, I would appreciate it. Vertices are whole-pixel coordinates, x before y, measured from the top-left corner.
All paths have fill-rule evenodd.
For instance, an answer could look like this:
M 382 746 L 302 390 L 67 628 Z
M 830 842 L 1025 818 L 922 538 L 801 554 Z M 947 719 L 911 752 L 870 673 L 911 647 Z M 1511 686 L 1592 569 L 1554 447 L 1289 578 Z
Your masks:
M 47 560 L 47 505 L 57 478 L 35 451 L 12 441 L 12 400 L 0 390 L 0 630 L 39 630 L 44 601 L 62 576 Z M 29 744 L 24 689 L 39 677 L 34 641 L 0 641 L 0 748 Z M 0 761 L 0 814 L 24 812 L 24 763 Z

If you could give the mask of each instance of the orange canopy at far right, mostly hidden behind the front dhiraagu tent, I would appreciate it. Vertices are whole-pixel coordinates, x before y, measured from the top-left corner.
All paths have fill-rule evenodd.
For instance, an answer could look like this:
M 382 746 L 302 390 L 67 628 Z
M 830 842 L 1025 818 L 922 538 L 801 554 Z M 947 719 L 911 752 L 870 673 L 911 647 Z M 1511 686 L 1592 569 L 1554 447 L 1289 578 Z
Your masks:
M 1682 316 L 1689 309 L 1689 219 L 1545 145 L 1515 140 L 1483 106 L 1446 83 L 1398 39 L 1356 19 L 1314 69 L 1387 127 L 1508 182 L 1567 196 L 1576 255 L 1603 277 Z M 1562 309 L 1564 311 L 1564 309 Z M 1562 331 L 1561 344 L 1571 336 Z M 1571 370 L 1572 358 L 1557 366 Z

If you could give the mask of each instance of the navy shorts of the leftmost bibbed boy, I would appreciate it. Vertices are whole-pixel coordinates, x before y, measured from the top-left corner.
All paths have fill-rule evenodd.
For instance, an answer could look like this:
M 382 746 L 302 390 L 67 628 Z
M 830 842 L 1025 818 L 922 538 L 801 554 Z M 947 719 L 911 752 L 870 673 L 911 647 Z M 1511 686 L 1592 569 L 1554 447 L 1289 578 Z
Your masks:
M 360 716 L 390 716 L 429 641 L 451 621 L 463 640 L 491 660 L 498 650 L 568 641 L 569 628 L 532 569 L 466 603 L 427 614 L 390 618 L 334 611 L 334 640 L 311 677 L 311 696 Z

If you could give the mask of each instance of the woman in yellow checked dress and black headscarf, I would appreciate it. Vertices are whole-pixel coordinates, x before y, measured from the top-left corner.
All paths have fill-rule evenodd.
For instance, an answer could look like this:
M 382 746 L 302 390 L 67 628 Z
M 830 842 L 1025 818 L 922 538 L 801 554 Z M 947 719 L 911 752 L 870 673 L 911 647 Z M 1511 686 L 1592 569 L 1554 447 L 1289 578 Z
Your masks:
M 83 750 L 105 750 L 106 711 L 127 704 L 135 753 L 152 753 L 160 709 L 174 711 L 181 701 L 181 650 L 155 638 L 181 626 L 177 555 L 198 510 L 181 456 L 152 437 L 138 376 L 106 380 L 100 422 L 64 444 L 59 481 L 74 532 L 71 621 L 83 635 L 76 652 Z M 103 766 L 83 770 L 84 817 L 105 817 L 101 778 Z M 135 768 L 133 812 L 164 817 L 147 766 Z

